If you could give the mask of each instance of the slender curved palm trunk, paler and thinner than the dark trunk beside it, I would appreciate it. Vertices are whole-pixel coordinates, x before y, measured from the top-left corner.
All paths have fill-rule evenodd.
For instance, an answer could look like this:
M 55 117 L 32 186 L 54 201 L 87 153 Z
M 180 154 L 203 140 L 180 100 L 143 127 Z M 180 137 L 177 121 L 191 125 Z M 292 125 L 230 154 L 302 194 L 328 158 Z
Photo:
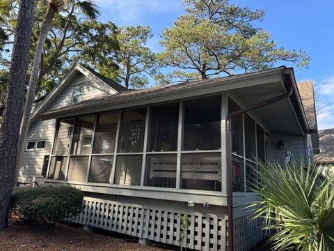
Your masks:
M 47 13 L 45 15 L 45 20 L 40 28 L 40 36 L 38 37 L 38 43 L 35 49 L 35 56 L 33 57 L 33 67 L 31 68 L 31 75 L 29 79 L 28 91 L 26 93 L 26 102 L 24 104 L 24 112 L 21 122 L 21 130 L 19 132 L 19 149 L 17 153 L 17 165 L 16 165 L 16 175 L 15 180 L 19 176 L 19 168 L 22 165 L 22 154 L 26 146 L 26 135 L 29 129 L 29 119 L 31 115 L 31 110 L 33 108 L 33 100 L 35 99 L 35 90 L 38 83 L 38 75 L 40 73 L 40 61 L 42 57 L 42 52 L 47 39 L 47 33 L 50 30 L 51 21 L 54 18 L 58 8 L 56 6 L 48 4 Z

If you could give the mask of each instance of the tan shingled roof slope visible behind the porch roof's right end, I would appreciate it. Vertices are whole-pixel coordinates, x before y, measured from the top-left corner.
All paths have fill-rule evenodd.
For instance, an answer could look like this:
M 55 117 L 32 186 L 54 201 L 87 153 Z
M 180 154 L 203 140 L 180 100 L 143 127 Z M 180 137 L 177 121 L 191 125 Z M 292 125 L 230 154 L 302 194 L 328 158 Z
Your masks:
M 312 81 L 297 84 L 310 130 L 317 130 L 317 115 L 315 112 L 315 92 Z

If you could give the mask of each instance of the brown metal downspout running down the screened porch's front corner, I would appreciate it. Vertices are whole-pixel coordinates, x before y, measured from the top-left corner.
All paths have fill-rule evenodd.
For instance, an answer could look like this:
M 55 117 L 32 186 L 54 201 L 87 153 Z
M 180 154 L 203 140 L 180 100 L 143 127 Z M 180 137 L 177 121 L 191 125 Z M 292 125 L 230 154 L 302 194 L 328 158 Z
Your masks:
M 235 112 L 231 112 L 226 117 L 226 163 L 228 165 L 227 171 L 228 171 L 228 251 L 233 251 L 234 248 L 234 236 L 233 236 L 233 190 L 232 190 L 232 126 L 231 126 L 231 120 L 233 116 L 244 114 L 246 112 L 253 111 L 255 109 L 265 107 L 267 105 L 271 105 L 274 102 L 278 102 L 280 100 L 285 100 L 286 98 L 289 98 L 292 95 L 293 89 L 292 84 L 289 85 L 289 88 L 287 91 L 280 95 L 276 96 L 274 98 L 270 98 L 269 100 L 264 100 L 263 102 L 258 102 L 255 105 L 250 105 L 249 107 L 239 109 Z

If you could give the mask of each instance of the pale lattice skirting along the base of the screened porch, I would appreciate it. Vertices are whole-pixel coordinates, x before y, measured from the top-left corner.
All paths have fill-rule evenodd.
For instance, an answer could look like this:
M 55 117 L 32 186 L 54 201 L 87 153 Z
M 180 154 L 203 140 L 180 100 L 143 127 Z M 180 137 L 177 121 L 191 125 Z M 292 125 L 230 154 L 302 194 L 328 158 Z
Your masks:
M 227 218 L 218 218 L 215 214 L 210 213 L 187 214 L 190 225 L 183 238 L 184 247 L 205 251 L 227 250 Z M 184 212 L 164 211 L 145 208 L 142 205 L 85 197 L 84 210 L 71 221 L 160 243 L 180 245 L 183 215 Z M 239 218 L 235 219 L 235 222 L 238 223 Z M 239 222 L 235 226 L 236 230 L 239 231 L 241 226 L 244 225 Z M 254 243 L 254 236 L 253 241 L 250 241 L 250 237 L 249 240 L 248 237 L 245 237 L 247 231 L 251 234 L 250 229 L 244 229 L 237 234 L 236 241 L 246 242 L 235 246 L 235 250 L 244 250 L 243 247 L 246 246 L 250 248 L 252 246 L 250 243 Z

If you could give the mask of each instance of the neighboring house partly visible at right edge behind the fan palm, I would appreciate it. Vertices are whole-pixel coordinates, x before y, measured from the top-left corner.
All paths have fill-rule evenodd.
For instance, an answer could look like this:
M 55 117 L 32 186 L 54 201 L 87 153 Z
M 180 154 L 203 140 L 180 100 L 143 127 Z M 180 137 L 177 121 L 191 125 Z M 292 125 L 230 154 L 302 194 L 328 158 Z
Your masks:
M 315 155 L 317 166 L 324 174 L 334 174 L 334 128 L 319 130 L 320 152 Z

